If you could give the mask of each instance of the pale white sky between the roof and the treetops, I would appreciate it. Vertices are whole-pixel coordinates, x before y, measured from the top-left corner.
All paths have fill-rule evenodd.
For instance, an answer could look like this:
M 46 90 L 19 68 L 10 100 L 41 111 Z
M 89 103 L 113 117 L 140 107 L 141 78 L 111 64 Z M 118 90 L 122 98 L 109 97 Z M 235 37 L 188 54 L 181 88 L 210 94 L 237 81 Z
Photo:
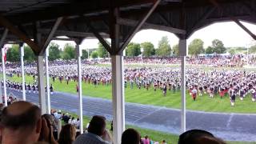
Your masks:
M 248 22 L 242 22 L 249 30 L 251 30 L 254 34 L 256 34 L 256 25 L 250 24 Z M 135 34 L 134 38 L 131 42 L 152 42 L 154 47 L 158 47 L 158 41 L 163 37 L 167 36 L 170 42 L 170 46 L 174 46 L 178 44 L 178 38 L 169 32 L 160 31 L 160 30 L 141 30 L 137 34 Z M 236 23 L 234 22 L 218 22 L 214 23 L 210 26 L 206 26 L 192 34 L 190 38 L 187 40 L 187 45 L 194 38 L 200 38 L 204 42 L 204 47 L 211 46 L 211 42 L 217 38 L 224 43 L 226 47 L 235 47 L 235 46 L 251 46 L 256 43 L 253 38 L 250 37 L 246 31 L 242 30 Z M 110 41 L 110 40 L 109 40 Z M 62 41 L 53 41 L 58 43 L 58 45 L 63 48 L 65 43 Z M 72 45 L 75 45 L 74 42 L 69 42 Z M 98 47 L 97 39 L 85 39 L 82 42 L 82 49 L 92 49 Z

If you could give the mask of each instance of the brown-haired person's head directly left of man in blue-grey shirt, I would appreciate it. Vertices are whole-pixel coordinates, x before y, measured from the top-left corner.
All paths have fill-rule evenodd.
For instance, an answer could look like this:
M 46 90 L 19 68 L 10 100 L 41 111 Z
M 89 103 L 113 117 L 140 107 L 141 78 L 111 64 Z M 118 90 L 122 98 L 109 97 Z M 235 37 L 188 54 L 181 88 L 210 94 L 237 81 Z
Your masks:
M 76 136 L 76 129 L 73 125 L 66 124 L 59 134 L 58 144 L 72 144 Z

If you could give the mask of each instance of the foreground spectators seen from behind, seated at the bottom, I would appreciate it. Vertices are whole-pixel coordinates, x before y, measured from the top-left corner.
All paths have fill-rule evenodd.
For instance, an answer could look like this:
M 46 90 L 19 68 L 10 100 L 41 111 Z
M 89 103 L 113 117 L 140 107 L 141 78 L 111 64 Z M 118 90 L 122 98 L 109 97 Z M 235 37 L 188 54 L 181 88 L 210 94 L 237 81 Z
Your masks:
M 64 126 L 59 137 L 55 136 L 56 119 L 62 119 Z M 67 120 L 68 119 L 68 120 Z M 84 134 L 79 134 L 79 126 L 70 122 L 69 114 L 52 110 L 51 114 L 41 114 L 38 106 L 25 101 L 17 101 L 1 107 L 0 140 L 3 144 L 110 144 L 111 133 L 106 129 L 106 118 L 94 115 Z M 73 118 L 74 119 L 74 118 Z M 147 135 L 142 138 L 137 130 L 127 129 L 122 134 L 121 144 L 166 144 L 153 142 Z M 171 142 L 169 142 L 171 143 Z M 204 130 L 189 130 L 181 134 L 178 144 L 225 144 Z

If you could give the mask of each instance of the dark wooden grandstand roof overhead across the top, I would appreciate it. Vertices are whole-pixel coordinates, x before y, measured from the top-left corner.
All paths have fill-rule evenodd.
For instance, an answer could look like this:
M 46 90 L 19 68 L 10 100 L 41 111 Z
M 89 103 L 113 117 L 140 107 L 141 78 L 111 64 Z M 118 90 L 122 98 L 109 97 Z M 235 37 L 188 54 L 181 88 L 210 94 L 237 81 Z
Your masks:
M 6 25 L 11 25 L 33 39 L 35 30 L 48 34 L 56 19 L 64 17 L 54 37 L 93 37 L 94 34 L 86 25 L 86 21 L 90 22 L 103 37 L 109 37 L 109 11 L 113 7 L 118 7 L 120 18 L 117 22 L 121 28 L 120 40 L 123 41 L 155 1 L 1 0 L 0 34 L 3 34 Z M 188 38 L 195 30 L 213 22 L 255 22 L 255 7 L 255 0 L 162 0 L 140 30 L 165 30 L 177 34 L 179 38 Z M 10 33 L 6 42 L 18 42 L 18 39 Z

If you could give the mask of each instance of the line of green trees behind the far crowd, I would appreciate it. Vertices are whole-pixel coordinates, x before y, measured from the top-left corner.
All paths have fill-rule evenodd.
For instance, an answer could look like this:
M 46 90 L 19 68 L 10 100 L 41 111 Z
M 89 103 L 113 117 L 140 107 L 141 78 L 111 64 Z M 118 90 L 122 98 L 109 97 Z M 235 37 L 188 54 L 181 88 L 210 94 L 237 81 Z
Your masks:
M 110 44 L 110 43 L 109 43 Z M 230 54 L 235 54 L 238 50 L 246 50 L 244 47 L 237 48 L 226 48 L 222 41 L 218 39 L 214 39 L 212 41 L 211 46 L 203 47 L 204 42 L 202 39 L 196 38 L 192 42 L 190 42 L 188 46 L 188 53 L 190 55 L 198 55 L 198 54 L 224 54 L 229 52 Z M 12 45 L 6 52 L 6 59 L 9 62 L 19 62 L 20 61 L 20 52 L 18 49 L 18 45 Z M 256 53 L 256 45 L 251 46 L 249 49 L 249 53 Z M 143 55 L 143 57 L 150 56 L 159 56 L 159 57 L 169 57 L 169 56 L 178 56 L 178 44 L 174 46 L 170 46 L 169 39 L 164 36 L 158 42 L 158 48 L 155 48 L 153 43 L 151 42 L 130 42 L 126 47 L 126 56 L 128 57 L 136 57 L 139 55 Z M 49 60 L 54 61 L 56 59 L 74 59 L 75 58 L 75 48 L 70 43 L 66 43 L 63 49 L 61 49 L 58 44 L 51 42 L 49 46 Z M 98 42 L 98 48 L 94 51 L 90 51 L 88 54 L 87 50 L 82 50 L 82 59 L 88 58 L 107 58 L 109 57 L 109 53 L 106 51 L 104 46 L 100 42 Z M 36 56 L 29 46 L 24 46 L 24 60 L 27 62 L 33 62 L 36 60 Z

